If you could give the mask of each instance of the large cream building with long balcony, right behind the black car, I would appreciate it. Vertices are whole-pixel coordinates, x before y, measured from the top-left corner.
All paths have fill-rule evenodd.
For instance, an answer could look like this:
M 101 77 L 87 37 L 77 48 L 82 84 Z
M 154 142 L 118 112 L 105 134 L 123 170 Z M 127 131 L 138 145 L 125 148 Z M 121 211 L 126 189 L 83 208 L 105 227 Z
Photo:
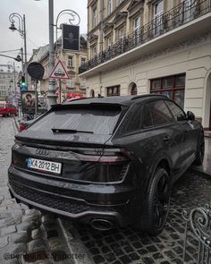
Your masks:
M 89 0 L 87 96 L 159 93 L 211 127 L 211 1 Z

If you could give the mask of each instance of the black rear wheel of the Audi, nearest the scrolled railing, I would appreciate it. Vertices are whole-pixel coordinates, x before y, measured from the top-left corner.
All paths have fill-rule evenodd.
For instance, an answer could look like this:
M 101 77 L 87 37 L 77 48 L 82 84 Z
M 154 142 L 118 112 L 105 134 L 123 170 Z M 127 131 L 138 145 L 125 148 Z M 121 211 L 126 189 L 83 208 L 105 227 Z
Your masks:
M 142 213 L 142 231 L 149 235 L 162 232 L 170 205 L 170 179 L 165 168 L 158 167 L 148 186 Z

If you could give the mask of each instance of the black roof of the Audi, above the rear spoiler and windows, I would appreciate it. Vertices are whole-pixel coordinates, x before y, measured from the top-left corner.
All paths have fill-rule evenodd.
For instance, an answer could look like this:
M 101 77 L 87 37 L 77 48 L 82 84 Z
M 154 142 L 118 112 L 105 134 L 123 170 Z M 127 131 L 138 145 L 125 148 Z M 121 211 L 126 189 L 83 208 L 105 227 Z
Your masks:
M 90 104 L 105 104 L 105 105 L 120 105 L 131 106 L 138 101 L 146 100 L 149 98 L 167 98 L 164 95 L 158 94 L 145 94 L 139 96 L 114 96 L 114 97 L 99 97 L 99 98 L 79 98 L 70 102 L 63 103 L 63 106 L 77 106 L 77 105 L 90 105 Z M 55 105 L 56 106 L 56 105 Z

